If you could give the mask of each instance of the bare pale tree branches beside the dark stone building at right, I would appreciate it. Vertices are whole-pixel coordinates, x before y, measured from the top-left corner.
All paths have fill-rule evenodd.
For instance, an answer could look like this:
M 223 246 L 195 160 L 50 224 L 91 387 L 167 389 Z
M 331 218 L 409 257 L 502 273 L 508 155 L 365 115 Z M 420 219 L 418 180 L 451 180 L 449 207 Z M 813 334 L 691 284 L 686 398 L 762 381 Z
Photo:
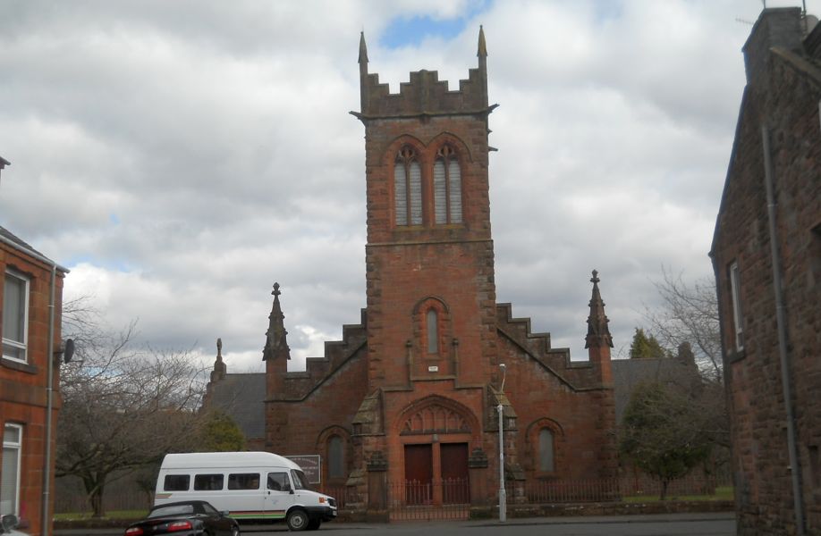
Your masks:
M 662 303 L 645 307 L 644 316 L 658 341 L 670 352 L 690 343 L 696 363 L 711 380 L 723 380 L 720 324 L 715 281 L 688 284 L 681 273 L 662 267 L 662 281 L 654 281 Z

